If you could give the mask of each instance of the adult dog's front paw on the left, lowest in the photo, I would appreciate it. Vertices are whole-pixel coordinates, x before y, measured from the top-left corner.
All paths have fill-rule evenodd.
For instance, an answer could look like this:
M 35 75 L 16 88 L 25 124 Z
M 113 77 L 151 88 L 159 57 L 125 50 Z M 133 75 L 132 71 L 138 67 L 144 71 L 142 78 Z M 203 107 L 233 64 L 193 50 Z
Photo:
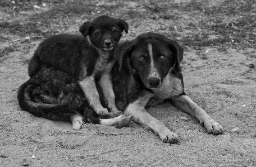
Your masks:
M 171 144 L 179 142 L 179 136 L 168 130 L 168 128 L 163 128 L 161 131 L 157 132 L 156 135 L 159 135 L 163 142 L 168 142 Z

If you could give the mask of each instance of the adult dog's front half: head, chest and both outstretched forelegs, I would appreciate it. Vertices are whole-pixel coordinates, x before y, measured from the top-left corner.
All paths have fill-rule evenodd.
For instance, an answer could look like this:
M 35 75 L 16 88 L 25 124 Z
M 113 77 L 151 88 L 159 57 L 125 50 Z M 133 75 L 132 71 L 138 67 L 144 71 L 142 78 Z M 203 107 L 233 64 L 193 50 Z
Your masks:
M 180 61 L 183 49 L 167 37 L 149 32 L 126 41 L 116 50 L 111 75 L 116 106 L 133 121 L 152 130 L 163 142 L 177 143 L 178 136 L 145 111 L 170 99 L 175 107 L 198 118 L 208 133 L 219 135 L 222 127 L 184 92 Z

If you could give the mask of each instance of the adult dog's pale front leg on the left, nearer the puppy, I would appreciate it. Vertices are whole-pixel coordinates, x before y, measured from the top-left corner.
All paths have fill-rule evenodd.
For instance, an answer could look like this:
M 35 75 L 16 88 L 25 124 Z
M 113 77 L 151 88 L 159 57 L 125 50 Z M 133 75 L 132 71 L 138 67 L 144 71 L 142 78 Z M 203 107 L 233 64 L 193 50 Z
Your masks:
M 149 130 L 152 130 L 156 135 L 159 135 L 163 142 L 177 143 L 179 141 L 178 136 L 172 131 L 168 130 L 168 128 L 161 121 L 157 120 L 157 118 L 154 118 L 147 113 L 147 111 L 145 111 L 144 106 L 147 104 L 147 102 L 145 102 L 143 98 L 145 97 L 130 103 L 126 107 L 124 114 L 133 116 L 133 121 L 139 123 L 139 125 L 145 128 L 148 128 Z

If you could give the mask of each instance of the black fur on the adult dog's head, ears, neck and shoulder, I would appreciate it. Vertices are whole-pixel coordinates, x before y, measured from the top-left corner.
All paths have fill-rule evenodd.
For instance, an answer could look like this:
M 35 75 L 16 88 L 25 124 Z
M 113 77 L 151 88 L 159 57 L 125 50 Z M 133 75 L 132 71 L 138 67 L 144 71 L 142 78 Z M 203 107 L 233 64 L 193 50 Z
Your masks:
M 159 65 L 157 65 L 158 71 L 162 74 L 161 79 L 166 77 L 168 71 L 174 67 L 172 68 L 171 75 L 181 80 L 184 89 L 180 68 L 180 61 L 183 58 L 182 47 L 180 47 L 176 41 L 172 41 L 163 35 L 153 32 L 139 35 L 135 40 L 126 41 L 118 45 L 116 49 L 117 61 L 113 66 L 111 75 L 113 90 L 116 96 L 116 106 L 121 111 L 124 111 L 129 103 L 143 97 L 145 92 L 152 92 L 152 90 L 147 87 L 147 79 L 144 77 L 145 74 L 148 74 L 147 72 L 149 70 L 147 68 L 149 63 L 141 63 L 138 60 L 141 55 L 147 56 L 144 55 L 144 53 L 147 52 L 145 48 L 147 45 L 145 44 L 148 42 L 166 51 L 166 53 L 163 53 L 163 50 L 157 50 L 157 48 L 153 46 L 153 50 L 166 54 L 166 61 L 158 61 Z M 166 50 L 166 48 L 170 50 Z M 185 93 L 183 92 L 183 94 Z

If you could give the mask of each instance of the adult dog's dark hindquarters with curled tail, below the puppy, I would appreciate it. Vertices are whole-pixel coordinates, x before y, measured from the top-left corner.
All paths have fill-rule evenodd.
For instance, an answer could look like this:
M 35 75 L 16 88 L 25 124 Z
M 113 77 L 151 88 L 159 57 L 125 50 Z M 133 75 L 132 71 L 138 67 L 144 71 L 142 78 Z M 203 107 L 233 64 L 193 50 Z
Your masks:
M 98 115 L 86 102 L 77 77 L 44 64 L 18 91 L 20 107 L 35 116 L 68 121 L 82 115 L 86 123 L 99 123 Z

